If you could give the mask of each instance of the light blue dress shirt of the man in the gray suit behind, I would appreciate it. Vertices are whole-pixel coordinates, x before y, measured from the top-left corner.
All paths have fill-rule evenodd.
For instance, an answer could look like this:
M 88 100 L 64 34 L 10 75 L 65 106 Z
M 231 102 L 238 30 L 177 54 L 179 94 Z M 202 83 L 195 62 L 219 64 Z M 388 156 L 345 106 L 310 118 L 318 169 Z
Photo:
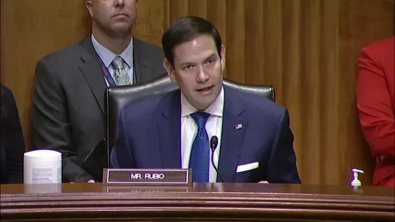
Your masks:
M 92 45 L 93 48 L 95 49 L 96 53 L 99 55 L 100 59 L 102 59 L 103 64 L 105 67 L 107 67 L 107 70 L 109 71 L 111 77 L 114 78 L 114 72 L 115 70 L 113 69 L 113 66 L 111 65 L 111 62 L 113 62 L 114 58 L 117 56 L 120 56 L 124 61 L 124 69 L 129 75 L 130 78 L 130 83 L 133 84 L 133 38 L 130 38 L 130 43 L 128 47 L 126 47 L 125 51 L 123 51 L 120 55 L 116 55 L 110 50 L 108 50 L 106 47 L 101 45 L 93 36 L 91 35 L 91 40 L 92 40 Z M 105 81 L 105 84 L 107 87 L 109 86 L 107 79 L 104 77 L 103 73 L 103 78 Z

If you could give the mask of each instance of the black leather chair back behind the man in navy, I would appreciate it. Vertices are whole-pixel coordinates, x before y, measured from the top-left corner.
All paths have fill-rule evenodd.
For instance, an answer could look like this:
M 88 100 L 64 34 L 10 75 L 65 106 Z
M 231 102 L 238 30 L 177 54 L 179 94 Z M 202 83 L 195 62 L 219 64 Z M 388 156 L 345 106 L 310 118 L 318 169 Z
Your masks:
M 275 101 L 274 88 L 272 85 L 246 85 L 224 79 L 224 85 L 247 93 L 258 94 L 269 100 Z M 115 145 L 118 135 L 119 114 L 122 107 L 156 94 L 170 92 L 178 88 L 171 82 L 165 73 L 147 83 L 117 87 L 107 87 L 105 92 L 105 115 L 106 115 L 106 138 L 107 157 Z M 107 158 L 109 161 L 109 158 Z M 109 163 L 107 163 L 109 166 Z

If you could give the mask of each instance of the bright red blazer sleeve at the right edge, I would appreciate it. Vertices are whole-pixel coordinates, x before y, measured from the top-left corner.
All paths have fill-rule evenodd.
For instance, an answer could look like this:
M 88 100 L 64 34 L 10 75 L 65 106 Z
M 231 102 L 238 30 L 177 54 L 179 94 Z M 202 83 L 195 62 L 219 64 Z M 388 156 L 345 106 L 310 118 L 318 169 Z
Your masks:
M 394 85 L 386 82 L 382 64 L 394 66 L 394 61 L 393 58 L 391 61 L 391 58 L 385 58 L 384 53 L 380 53 L 382 50 L 388 50 L 388 47 L 378 50 L 366 47 L 361 50 L 358 60 L 356 102 L 359 123 L 371 147 L 372 155 L 393 158 L 395 129 L 389 90 L 394 90 Z

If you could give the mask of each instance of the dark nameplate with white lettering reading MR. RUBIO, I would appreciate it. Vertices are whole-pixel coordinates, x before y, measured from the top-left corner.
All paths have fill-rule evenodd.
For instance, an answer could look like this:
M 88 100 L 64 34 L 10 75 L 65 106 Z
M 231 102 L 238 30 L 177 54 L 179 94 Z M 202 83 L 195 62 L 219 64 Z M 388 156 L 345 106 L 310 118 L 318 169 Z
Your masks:
M 192 185 L 192 169 L 103 169 L 103 185 Z

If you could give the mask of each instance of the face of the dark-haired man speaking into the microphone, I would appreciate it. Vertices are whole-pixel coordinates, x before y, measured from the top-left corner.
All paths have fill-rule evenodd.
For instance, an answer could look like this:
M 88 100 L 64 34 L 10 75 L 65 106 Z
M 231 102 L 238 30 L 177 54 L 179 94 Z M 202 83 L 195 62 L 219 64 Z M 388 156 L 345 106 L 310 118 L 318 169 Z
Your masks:
M 222 88 L 223 45 L 220 53 L 221 58 L 213 38 L 203 34 L 174 47 L 174 66 L 164 61 L 171 81 L 179 85 L 188 102 L 198 110 L 209 107 Z

